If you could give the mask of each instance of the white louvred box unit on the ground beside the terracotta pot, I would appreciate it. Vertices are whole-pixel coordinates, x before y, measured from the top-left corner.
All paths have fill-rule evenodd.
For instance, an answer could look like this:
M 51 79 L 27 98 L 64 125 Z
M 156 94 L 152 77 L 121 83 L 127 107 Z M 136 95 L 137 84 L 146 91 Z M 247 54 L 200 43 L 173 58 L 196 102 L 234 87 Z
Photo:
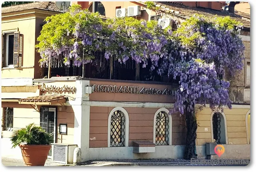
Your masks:
M 52 161 L 61 164 L 73 164 L 76 144 L 52 143 Z

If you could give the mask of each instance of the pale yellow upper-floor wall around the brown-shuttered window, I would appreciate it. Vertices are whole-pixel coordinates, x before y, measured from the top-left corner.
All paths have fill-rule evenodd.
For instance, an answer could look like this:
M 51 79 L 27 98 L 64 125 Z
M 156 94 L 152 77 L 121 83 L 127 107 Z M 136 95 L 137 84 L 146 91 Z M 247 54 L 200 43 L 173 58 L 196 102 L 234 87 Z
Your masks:
M 2 78 L 34 78 L 35 57 L 35 24 L 36 19 L 23 19 L 18 21 L 2 21 L 1 29 L 16 29 L 23 34 L 23 59 L 21 69 L 2 69 Z

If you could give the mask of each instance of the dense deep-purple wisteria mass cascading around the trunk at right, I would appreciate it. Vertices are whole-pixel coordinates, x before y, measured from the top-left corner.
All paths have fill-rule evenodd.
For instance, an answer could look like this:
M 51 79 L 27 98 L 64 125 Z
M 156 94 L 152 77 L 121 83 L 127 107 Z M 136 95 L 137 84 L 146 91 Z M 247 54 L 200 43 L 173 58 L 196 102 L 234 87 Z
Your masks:
M 159 74 L 178 80 L 174 111 L 181 114 L 193 111 L 195 104 L 210 104 L 212 110 L 231 108 L 229 82 L 218 76 L 224 74 L 225 68 L 232 76 L 243 68 L 244 45 L 234 29 L 234 25 L 239 26 L 236 22 L 216 18 L 214 23 L 201 16 L 184 22 L 172 35 L 168 56 L 158 70 Z

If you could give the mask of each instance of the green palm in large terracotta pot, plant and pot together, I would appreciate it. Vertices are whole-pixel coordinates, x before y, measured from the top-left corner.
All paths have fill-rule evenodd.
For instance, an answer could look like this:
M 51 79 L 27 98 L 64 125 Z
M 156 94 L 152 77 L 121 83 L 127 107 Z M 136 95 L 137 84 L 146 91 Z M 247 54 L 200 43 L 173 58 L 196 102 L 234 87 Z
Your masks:
M 44 166 L 51 148 L 52 136 L 42 127 L 32 123 L 14 130 L 11 141 L 12 148 L 20 146 L 24 166 Z

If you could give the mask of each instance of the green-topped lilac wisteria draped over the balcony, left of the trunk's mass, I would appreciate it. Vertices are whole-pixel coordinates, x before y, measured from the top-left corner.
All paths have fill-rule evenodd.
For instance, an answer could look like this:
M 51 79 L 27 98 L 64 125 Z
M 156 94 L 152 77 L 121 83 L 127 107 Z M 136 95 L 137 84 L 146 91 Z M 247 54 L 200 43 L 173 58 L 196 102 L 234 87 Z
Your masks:
M 36 46 L 42 59 L 41 66 L 52 58 L 65 57 L 65 65 L 80 66 L 94 59 L 93 53 L 105 50 L 105 58 L 113 57 L 120 63 L 129 58 L 146 67 L 152 61 L 152 70 L 158 60 L 166 56 L 168 32 L 155 21 L 132 17 L 108 19 L 103 22 L 98 13 L 81 10 L 74 5 L 70 12 L 46 18 Z

